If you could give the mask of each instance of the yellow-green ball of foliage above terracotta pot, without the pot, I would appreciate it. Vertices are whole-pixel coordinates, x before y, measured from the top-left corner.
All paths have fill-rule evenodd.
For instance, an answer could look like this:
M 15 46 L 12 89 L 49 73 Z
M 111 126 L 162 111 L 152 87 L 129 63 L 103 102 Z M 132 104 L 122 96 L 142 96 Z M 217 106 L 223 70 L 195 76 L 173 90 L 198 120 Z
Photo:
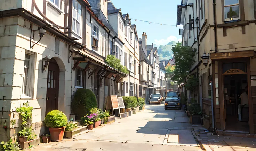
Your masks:
M 59 110 L 52 110 L 45 117 L 45 125 L 50 128 L 64 127 L 67 125 L 67 117 Z

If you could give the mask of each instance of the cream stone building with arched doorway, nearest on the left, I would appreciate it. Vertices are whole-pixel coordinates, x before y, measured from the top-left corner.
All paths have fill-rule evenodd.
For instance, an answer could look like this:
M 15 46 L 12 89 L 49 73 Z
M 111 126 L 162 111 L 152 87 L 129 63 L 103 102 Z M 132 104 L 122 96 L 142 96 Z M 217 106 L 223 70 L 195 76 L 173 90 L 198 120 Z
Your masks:
M 43 120 L 50 110 L 70 119 L 77 89 L 91 89 L 101 109 L 107 96 L 117 94 L 118 83 L 128 75 L 104 60 L 113 43 L 123 43 L 107 21 L 107 1 L 98 2 L 98 11 L 87 0 L 10 0 L 0 6 L 0 102 L 7 126 L 2 141 L 17 138 L 15 111 L 24 103 L 33 107 L 29 124 L 41 136 L 48 130 Z

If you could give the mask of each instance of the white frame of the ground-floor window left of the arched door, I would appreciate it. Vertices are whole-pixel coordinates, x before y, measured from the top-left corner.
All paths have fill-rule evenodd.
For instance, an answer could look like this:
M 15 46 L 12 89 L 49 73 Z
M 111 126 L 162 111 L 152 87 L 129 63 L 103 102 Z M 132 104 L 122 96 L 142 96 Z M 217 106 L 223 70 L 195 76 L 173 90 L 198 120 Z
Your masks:
M 27 88 L 26 88 L 26 94 L 24 94 L 24 82 L 25 82 L 25 73 L 24 73 L 24 69 L 23 69 L 23 75 L 22 75 L 22 87 L 21 87 L 21 98 L 33 98 L 34 96 L 34 75 L 35 75 L 35 58 L 36 58 L 36 54 L 32 53 L 30 51 L 25 51 L 25 54 L 30 55 L 30 62 L 29 62 L 29 71 L 28 74 L 26 76 L 26 78 L 28 78 L 27 80 Z M 25 61 L 25 57 L 24 57 L 24 61 Z M 24 62 L 24 67 L 25 67 L 25 62 Z

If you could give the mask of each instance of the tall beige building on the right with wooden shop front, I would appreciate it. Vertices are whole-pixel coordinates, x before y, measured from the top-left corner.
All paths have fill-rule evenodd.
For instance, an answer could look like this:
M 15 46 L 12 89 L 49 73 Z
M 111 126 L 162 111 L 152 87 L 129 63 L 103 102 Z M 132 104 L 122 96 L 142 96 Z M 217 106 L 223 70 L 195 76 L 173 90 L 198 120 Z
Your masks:
M 183 45 L 198 52 L 190 72 L 199 76 L 199 91 L 195 95 L 203 112 L 213 117 L 211 127 L 219 134 L 256 133 L 255 6 L 254 0 L 222 0 L 215 4 L 182 0 L 178 5 L 177 25 L 184 25 L 180 32 Z M 247 89 L 248 103 L 242 101 L 240 114 L 239 96 Z

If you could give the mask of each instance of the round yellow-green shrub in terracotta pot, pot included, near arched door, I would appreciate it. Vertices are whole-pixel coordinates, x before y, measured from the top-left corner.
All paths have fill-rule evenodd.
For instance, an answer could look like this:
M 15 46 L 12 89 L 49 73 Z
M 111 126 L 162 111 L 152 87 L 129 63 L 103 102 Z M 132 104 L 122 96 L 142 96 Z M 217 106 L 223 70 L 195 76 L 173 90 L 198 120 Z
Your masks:
M 51 141 L 63 140 L 65 127 L 67 125 L 67 117 L 63 112 L 59 110 L 50 111 L 45 117 L 45 125 L 49 127 Z

